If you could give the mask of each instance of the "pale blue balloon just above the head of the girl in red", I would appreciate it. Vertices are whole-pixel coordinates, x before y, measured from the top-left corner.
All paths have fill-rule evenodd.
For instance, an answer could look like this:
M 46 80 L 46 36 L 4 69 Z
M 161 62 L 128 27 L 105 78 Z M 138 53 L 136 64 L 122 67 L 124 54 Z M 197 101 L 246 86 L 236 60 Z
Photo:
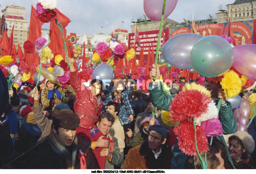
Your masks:
M 113 70 L 107 63 L 98 65 L 92 72 L 92 79 L 100 79 L 103 84 L 109 84 L 113 79 Z

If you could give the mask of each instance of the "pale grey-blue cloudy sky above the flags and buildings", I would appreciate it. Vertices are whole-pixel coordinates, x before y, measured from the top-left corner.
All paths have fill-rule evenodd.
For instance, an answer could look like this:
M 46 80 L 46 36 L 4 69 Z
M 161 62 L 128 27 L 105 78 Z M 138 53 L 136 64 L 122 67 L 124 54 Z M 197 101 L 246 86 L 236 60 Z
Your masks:
M 147 0 L 150 1 L 150 0 Z M 168 1 L 168 0 L 167 0 Z M 194 9 L 194 19 L 208 19 L 209 14 L 216 17 L 218 7 L 234 3 L 235 0 L 178 0 L 178 3 L 168 18 L 177 22 L 184 22 L 192 19 Z M 25 7 L 25 19 L 29 21 L 31 2 L 36 8 L 37 1 L 33 0 L 0 0 L 1 7 L 12 3 L 15 6 Z M 66 27 L 67 33 L 86 33 L 92 36 L 94 33 L 110 34 L 116 28 L 126 28 L 131 32 L 131 19 L 143 17 L 143 0 L 57 0 L 57 8 L 66 15 L 71 22 Z M 122 23 L 122 21 L 124 23 Z M 101 28 L 101 26 L 103 28 Z M 49 29 L 49 24 L 44 24 L 42 28 Z

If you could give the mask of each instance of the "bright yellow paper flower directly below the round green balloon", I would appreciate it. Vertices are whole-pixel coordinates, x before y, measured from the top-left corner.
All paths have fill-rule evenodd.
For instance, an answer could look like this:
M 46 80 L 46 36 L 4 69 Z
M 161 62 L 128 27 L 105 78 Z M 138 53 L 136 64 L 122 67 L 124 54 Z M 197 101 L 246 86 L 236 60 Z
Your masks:
M 241 79 L 237 73 L 232 70 L 224 74 L 220 85 L 224 89 L 226 98 L 237 96 L 242 89 Z

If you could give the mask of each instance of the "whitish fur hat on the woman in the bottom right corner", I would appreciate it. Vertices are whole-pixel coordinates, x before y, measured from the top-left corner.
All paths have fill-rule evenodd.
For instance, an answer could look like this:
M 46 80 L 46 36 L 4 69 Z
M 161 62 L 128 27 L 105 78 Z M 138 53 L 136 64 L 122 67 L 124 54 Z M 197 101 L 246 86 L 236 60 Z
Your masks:
M 231 136 L 236 135 L 243 143 L 244 148 L 246 149 L 246 153 L 250 155 L 254 150 L 254 140 L 252 136 L 246 131 L 237 131 Z

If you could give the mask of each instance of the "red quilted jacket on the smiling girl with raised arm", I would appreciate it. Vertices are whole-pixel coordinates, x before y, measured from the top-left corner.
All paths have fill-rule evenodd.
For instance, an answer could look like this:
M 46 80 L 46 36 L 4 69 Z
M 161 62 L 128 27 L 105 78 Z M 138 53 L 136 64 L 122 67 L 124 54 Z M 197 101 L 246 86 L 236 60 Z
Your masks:
M 102 110 L 102 100 L 100 97 L 94 97 L 88 88 L 81 90 L 81 79 L 77 71 L 71 72 L 70 81 L 77 94 L 74 111 L 80 118 L 79 126 L 89 130 L 92 127 L 96 128 L 95 123 L 98 121 Z

